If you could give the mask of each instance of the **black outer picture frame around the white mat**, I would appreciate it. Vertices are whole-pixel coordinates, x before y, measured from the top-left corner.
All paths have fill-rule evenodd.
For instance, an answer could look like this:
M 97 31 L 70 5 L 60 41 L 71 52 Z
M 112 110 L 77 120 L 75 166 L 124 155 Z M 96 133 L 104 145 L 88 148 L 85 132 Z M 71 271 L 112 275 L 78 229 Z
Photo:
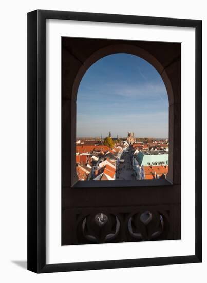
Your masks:
M 46 264 L 46 19 L 196 29 L 195 254 L 190 256 Z M 202 21 L 82 12 L 28 13 L 28 270 L 36 273 L 157 266 L 202 261 Z

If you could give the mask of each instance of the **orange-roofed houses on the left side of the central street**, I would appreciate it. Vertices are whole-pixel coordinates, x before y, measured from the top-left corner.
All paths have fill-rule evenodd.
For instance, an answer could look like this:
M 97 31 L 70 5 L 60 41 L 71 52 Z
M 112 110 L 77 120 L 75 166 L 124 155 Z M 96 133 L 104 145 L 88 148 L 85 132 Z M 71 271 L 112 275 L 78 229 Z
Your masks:
M 128 143 L 117 144 L 113 149 L 100 144 L 76 145 L 76 171 L 78 179 L 116 180 L 116 171 Z

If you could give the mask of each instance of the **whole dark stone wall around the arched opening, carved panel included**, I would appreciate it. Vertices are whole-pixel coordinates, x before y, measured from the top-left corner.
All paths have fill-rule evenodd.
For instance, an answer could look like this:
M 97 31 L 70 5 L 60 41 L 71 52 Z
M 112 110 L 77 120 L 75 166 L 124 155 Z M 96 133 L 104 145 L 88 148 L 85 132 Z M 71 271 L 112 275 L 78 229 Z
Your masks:
M 78 181 L 78 88 L 92 64 L 105 56 L 119 53 L 138 56 L 153 65 L 166 87 L 170 145 L 167 179 Z M 162 164 L 165 160 L 161 158 L 159 162 L 165 166 Z M 152 161 L 148 161 L 148 166 L 153 166 Z M 144 174 L 141 166 L 140 175 Z M 159 229 L 150 235 L 141 235 L 140 225 L 145 225 L 150 219 L 158 220 L 154 223 Z M 95 232 L 102 225 L 112 229 L 99 236 L 88 232 L 87 227 Z M 74 226 L 77 229 L 71 229 Z M 181 44 L 62 38 L 62 245 L 152 238 L 181 238 Z

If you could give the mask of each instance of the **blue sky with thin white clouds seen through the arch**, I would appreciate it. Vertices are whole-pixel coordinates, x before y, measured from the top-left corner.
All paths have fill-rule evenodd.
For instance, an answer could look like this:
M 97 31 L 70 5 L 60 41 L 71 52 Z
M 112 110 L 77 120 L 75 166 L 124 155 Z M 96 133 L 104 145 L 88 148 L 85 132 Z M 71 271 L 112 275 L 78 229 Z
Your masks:
M 157 70 L 131 54 L 103 57 L 85 73 L 77 96 L 77 137 L 168 137 L 168 97 Z

